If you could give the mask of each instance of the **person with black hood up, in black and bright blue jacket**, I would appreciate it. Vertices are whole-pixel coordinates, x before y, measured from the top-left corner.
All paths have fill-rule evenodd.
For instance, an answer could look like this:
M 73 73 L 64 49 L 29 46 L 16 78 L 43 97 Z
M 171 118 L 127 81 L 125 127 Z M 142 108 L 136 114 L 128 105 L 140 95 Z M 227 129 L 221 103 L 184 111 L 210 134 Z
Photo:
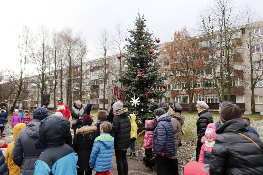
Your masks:
M 78 156 L 65 144 L 70 131 L 69 120 L 62 116 L 49 116 L 39 125 L 36 148 L 46 148 L 34 163 L 34 175 L 76 175 Z

